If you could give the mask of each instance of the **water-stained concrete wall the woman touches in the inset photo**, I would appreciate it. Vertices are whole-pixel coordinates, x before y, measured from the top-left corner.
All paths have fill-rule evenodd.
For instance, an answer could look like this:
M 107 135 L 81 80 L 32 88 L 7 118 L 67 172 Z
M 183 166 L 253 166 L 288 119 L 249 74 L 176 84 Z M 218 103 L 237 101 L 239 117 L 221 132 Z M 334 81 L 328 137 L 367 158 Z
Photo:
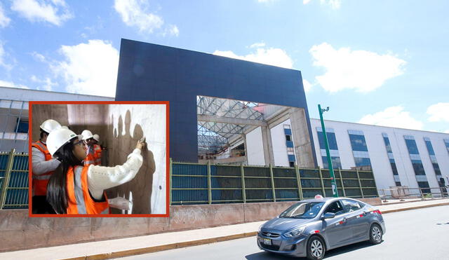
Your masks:
M 133 214 L 166 213 L 166 105 L 110 104 L 107 111 L 109 161 L 121 164 L 142 137 L 143 165 L 136 177 L 107 191 L 108 195 L 133 198 Z M 112 165 L 110 165 L 112 166 Z

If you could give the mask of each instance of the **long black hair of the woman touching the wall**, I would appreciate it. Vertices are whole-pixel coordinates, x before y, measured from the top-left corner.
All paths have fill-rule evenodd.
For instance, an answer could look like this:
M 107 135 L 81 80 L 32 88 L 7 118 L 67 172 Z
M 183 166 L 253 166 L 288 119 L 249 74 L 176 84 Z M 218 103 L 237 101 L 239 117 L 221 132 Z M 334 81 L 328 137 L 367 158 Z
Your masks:
M 82 165 L 81 160 L 76 158 L 73 153 L 73 141 L 76 138 L 71 139 L 55 153 L 55 156 L 58 156 L 58 160 L 61 160 L 61 163 L 53 172 L 53 175 L 51 175 L 47 185 L 47 201 L 58 214 L 67 213 L 67 191 L 65 189 L 67 171 L 71 166 Z

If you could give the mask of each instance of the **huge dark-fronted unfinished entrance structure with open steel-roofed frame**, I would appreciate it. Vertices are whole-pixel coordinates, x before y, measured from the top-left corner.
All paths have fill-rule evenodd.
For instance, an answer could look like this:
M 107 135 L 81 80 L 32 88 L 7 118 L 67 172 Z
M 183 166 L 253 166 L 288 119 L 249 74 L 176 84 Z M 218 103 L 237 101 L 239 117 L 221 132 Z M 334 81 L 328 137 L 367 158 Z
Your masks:
M 197 162 L 199 151 L 219 155 L 256 130 L 262 141 L 243 149 L 249 157 L 251 149 L 262 150 L 264 157 L 248 157 L 248 163 L 272 164 L 270 129 L 289 118 L 297 165 L 316 166 L 300 71 L 122 39 L 116 100 L 170 102 L 170 156 L 176 161 Z M 249 103 L 288 108 L 268 116 Z

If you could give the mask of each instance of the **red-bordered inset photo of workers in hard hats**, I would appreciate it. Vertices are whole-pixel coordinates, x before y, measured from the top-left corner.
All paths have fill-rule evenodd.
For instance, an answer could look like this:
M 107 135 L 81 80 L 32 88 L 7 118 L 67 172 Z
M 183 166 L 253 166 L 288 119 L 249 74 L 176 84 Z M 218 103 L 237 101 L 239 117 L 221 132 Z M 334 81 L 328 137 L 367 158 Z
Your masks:
M 30 217 L 168 217 L 168 102 L 29 102 Z

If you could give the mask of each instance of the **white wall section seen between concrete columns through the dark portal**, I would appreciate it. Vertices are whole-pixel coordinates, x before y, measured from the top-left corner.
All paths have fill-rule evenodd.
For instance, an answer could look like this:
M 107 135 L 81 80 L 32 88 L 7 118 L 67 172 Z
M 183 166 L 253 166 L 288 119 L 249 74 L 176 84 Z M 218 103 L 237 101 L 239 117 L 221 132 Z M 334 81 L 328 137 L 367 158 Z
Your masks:
M 291 125 L 290 119 L 283 121 L 271 129 L 274 165 L 289 167 L 286 134 L 283 131 L 283 125 Z

